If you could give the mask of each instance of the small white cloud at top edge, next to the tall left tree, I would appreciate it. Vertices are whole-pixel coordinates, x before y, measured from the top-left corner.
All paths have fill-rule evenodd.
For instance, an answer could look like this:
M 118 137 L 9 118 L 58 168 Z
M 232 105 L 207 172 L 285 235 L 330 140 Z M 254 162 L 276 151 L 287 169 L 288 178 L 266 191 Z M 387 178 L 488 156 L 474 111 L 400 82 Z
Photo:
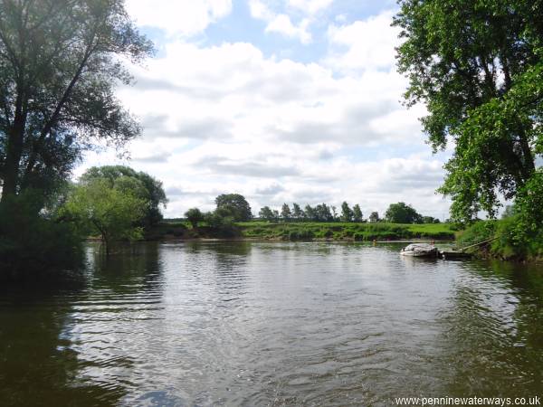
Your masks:
M 139 25 L 190 36 L 230 14 L 232 0 L 127 0 L 126 7 Z

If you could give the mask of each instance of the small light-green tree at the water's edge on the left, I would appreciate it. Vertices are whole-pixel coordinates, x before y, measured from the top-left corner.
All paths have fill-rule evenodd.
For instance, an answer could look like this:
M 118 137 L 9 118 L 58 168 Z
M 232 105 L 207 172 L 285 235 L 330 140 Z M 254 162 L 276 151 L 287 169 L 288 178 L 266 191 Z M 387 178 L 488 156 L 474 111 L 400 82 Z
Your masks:
M 99 232 L 109 255 L 113 241 L 141 238 L 142 229 L 136 225 L 146 206 L 135 194 L 112 186 L 110 180 L 95 178 L 75 187 L 62 213 L 90 232 Z

